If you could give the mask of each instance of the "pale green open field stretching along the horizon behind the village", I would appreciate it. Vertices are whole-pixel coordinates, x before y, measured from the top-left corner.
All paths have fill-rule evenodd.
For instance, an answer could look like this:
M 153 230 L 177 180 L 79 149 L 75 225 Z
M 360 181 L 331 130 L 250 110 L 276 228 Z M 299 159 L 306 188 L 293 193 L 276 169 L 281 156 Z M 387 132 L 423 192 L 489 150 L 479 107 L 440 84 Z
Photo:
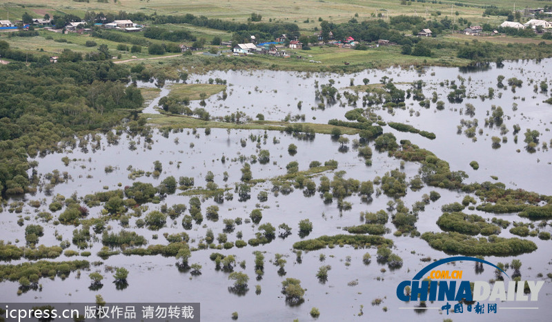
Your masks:
M 323 19 L 335 22 L 348 21 L 356 13 L 359 20 L 369 19 L 373 14 L 382 13 L 384 16 L 408 14 L 430 16 L 432 13 L 437 14 L 440 11 L 442 15 L 451 13 L 451 5 L 453 3 L 462 3 L 464 6 L 453 6 L 453 11 L 458 11 L 459 17 L 481 18 L 481 21 L 487 19 L 493 20 L 497 17 L 482 19 L 481 14 L 484 6 L 497 6 L 499 8 L 512 8 L 516 1 L 439 1 L 440 3 L 431 3 L 427 1 L 409 2 L 401 5 L 400 0 L 282 0 L 282 1 L 215 1 L 215 0 L 119 0 L 117 3 L 109 1 L 109 3 L 99 3 L 95 0 L 86 2 L 75 2 L 67 0 L 21 0 L 17 2 L 6 2 L 3 7 L 10 11 L 11 17 L 21 17 L 23 12 L 34 12 L 37 15 L 43 15 L 48 12 L 50 15 L 56 11 L 83 15 L 87 10 L 95 12 L 119 12 L 124 10 L 127 12 L 145 12 L 152 14 L 186 14 L 193 13 L 197 16 L 204 15 L 206 17 L 216 17 L 220 19 L 236 19 L 246 20 L 252 12 L 262 14 L 264 21 L 268 19 L 290 21 L 299 24 L 302 29 L 312 29 L 317 26 L 317 19 Z M 408 5 L 410 3 L 410 5 Z M 544 6 L 544 1 L 526 0 L 523 3 L 517 1 L 518 8 L 537 8 Z M 24 7 L 24 8 L 23 8 Z M 427 9 L 427 12 L 426 12 Z M 6 10 L 0 10 L 0 19 L 6 19 Z M 309 22 L 306 23 L 306 19 Z

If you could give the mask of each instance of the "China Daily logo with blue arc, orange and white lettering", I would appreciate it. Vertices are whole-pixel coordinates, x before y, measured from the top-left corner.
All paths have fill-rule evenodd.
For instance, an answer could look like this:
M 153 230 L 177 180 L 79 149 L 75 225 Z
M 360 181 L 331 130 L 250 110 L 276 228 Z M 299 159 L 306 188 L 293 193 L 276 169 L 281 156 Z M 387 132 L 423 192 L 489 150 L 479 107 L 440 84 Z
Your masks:
M 441 259 L 427 265 L 424 269 L 418 272 L 412 281 L 402 281 L 397 286 L 397 298 L 400 301 L 447 301 L 446 305 L 442 306 L 442 310 L 446 310 L 449 314 L 448 301 L 459 302 L 464 299 L 465 303 L 475 303 L 475 312 L 484 312 L 484 305 L 480 301 L 538 301 L 538 296 L 544 281 L 495 281 L 488 283 L 486 281 L 473 281 L 473 293 L 471 290 L 471 281 L 461 281 L 462 271 L 453 270 L 435 270 L 440 265 L 450 263 L 452 261 L 475 261 L 491 265 L 500 272 L 504 273 L 510 279 L 510 276 L 503 270 L 498 268 L 493 263 L 467 256 L 455 256 L 448 259 Z M 423 280 L 427 276 L 428 280 Z M 435 279 L 440 279 L 437 282 Z M 422 280 L 422 281 L 420 281 Z M 529 293 L 525 294 L 525 285 L 529 286 Z M 407 288 L 408 287 L 408 288 Z M 471 304 L 468 310 L 471 311 Z M 496 312 L 496 304 L 488 304 L 487 312 Z M 460 310 L 462 309 L 462 310 Z M 455 312 L 463 312 L 462 303 L 455 305 Z

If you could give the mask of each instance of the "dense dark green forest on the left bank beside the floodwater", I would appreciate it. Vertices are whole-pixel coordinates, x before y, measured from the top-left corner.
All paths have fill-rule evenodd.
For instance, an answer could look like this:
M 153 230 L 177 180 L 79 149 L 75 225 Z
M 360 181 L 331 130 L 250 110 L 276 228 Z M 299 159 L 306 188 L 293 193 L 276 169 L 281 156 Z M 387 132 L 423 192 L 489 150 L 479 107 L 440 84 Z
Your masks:
M 9 50 L 0 41 L 0 52 Z M 2 55 L 4 57 L 4 55 Z M 30 191 L 34 163 L 81 131 L 108 130 L 144 99 L 128 85 L 130 68 L 111 61 L 0 66 L 0 187 L 6 194 Z

